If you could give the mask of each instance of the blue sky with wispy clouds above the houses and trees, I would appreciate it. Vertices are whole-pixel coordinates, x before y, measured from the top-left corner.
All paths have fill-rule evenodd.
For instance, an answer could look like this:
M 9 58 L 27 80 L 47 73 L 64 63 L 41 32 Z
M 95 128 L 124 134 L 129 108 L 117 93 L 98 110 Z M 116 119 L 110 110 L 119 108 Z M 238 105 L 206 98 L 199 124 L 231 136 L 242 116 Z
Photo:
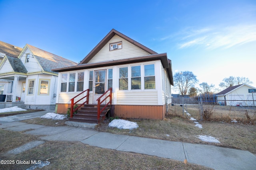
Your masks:
M 167 53 L 174 73 L 216 88 L 244 76 L 256 87 L 255 0 L 0 0 L 0 11 L 0 41 L 18 47 L 79 62 L 114 28 Z

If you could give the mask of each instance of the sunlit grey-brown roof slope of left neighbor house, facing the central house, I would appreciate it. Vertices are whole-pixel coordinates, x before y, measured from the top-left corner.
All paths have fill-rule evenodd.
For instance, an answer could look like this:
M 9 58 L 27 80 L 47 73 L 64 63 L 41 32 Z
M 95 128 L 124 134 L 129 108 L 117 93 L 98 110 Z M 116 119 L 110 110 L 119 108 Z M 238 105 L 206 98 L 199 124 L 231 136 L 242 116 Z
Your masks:
M 63 57 L 49 53 L 32 45 L 26 44 L 26 46 L 30 49 L 30 51 L 33 53 L 33 56 L 36 57 L 43 70 L 46 72 L 56 73 L 52 71 L 53 68 L 62 68 L 77 65 L 77 63 L 73 61 L 64 59 Z

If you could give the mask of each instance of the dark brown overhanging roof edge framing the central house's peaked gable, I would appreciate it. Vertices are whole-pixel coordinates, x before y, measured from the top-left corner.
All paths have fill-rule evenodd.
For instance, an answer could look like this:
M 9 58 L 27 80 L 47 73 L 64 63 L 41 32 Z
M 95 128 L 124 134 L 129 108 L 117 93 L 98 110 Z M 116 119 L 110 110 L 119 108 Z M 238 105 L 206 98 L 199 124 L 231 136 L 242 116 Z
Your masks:
M 114 35 L 118 35 L 119 37 L 125 39 L 126 41 L 132 43 L 133 45 L 139 47 L 140 49 L 146 51 L 149 54 L 157 54 L 155 51 L 149 49 L 148 47 L 138 43 L 137 41 L 127 37 L 126 35 L 116 31 L 115 29 L 112 29 L 101 41 L 100 43 L 98 43 L 98 45 L 96 45 L 96 47 L 94 47 L 94 49 L 92 49 L 92 51 L 86 55 L 86 57 L 79 63 L 79 64 L 86 64 L 88 63 L 92 57 L 94 57 L 94 55 L 96 55 L 100 49 L 102 49 L 102 47 L 104 47 L 104 45 L 106 45 L 106 43 L 108 43 L 108 41 L 110 41 L 110 39 L 112 39 L 112 37 L 114 37 Z

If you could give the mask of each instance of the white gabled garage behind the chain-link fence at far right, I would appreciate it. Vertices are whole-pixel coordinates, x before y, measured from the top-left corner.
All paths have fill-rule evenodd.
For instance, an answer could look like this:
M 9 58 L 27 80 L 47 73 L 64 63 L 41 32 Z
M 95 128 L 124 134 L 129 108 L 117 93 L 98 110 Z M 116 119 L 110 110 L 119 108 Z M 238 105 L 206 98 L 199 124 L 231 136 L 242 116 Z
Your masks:
M 253 90 L 251 90 L 253 89 Z M 256 106 L 255 87 L 248 84 L 231 86 L 219 92 L 218 103 L 226 106 Z

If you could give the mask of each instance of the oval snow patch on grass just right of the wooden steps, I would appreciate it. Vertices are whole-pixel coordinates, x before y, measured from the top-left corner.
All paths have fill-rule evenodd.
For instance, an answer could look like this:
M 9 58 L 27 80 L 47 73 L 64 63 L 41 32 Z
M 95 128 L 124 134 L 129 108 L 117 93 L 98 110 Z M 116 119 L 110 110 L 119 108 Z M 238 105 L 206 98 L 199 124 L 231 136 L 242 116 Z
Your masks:
M 118 129 L 136 129 L 139 127 L 136 122 L 123 120 L 123 119 L 114 119 L 109 124 L 109 127 L 116 127 Z

